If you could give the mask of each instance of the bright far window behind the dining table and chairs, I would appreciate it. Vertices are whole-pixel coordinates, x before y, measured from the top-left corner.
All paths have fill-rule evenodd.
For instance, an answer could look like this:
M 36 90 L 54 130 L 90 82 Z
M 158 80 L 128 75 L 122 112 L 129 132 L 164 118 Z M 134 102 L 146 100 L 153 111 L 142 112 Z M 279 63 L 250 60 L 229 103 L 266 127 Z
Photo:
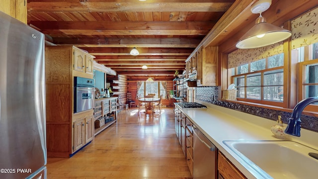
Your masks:
M 153 82 L 153 83 L 138 82 L 138 83 L 140 84 L 140 87 L 138 89 L 138 94 L 140 94 L 141 97 L 144 97 L 145 95 L 149 93 L 153 93 L 155 94 L 155 97 L 159 97 L 162 94 L 162 98 L 165 98 L 166 82 Z

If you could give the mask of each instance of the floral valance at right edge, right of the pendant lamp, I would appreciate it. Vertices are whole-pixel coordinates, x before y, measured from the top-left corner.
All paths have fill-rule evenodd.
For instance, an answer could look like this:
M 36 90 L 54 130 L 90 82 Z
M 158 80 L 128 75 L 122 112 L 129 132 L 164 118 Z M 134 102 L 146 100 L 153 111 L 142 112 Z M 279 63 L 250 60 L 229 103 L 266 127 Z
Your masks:
M 318 42 L 318 8 L 292 20 L 292 48 Z

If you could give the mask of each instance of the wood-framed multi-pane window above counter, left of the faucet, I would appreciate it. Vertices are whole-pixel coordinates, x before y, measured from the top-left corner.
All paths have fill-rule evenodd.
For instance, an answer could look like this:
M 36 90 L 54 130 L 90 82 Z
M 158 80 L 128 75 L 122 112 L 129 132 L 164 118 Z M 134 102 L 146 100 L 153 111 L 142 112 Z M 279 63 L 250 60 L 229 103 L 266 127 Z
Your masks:
M 238 100 L 282 106 L 284 101 L 284 54 L 232 69 Z

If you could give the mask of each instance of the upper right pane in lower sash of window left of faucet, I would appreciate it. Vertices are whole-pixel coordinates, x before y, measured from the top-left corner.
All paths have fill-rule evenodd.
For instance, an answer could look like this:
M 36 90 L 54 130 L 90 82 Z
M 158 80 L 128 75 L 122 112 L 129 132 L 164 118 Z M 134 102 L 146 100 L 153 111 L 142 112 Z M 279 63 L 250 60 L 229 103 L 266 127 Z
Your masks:
M 284 71 L 282 69 L 264 72 L 264 86 L 284 85 Z

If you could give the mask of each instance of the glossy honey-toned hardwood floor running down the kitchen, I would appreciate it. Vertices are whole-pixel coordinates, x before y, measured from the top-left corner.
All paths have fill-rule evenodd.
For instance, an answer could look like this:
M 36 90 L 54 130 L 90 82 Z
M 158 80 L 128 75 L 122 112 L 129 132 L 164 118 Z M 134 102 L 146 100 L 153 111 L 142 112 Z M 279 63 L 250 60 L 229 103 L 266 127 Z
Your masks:
M 191 179 L 174 131 L 172 108 L 118 114 L 70 159 L 48 159 L 48 179 Z

